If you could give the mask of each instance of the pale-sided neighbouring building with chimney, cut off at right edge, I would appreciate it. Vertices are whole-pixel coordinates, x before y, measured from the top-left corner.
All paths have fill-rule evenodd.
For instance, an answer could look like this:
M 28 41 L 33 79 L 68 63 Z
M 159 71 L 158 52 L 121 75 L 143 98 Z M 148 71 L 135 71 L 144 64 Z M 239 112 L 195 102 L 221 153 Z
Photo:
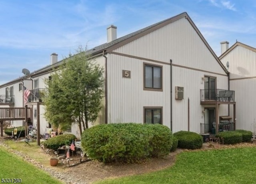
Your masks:
M 219 58 L 230 72 L 230 89 L 236 91 L 236 129 L 255 132 L 256 48 L 240 42 L 228 48 L 228 44 L 221 42 Z

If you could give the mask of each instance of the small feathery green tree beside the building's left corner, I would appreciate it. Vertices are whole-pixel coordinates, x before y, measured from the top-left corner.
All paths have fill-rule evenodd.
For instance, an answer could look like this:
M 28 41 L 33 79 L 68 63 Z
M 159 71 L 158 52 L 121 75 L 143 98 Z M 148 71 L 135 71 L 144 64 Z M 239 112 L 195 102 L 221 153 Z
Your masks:
M 80 133 L 88 129 L 88 122 L 97 119 L 102 108 L 104 70 L 94 63 L 82 47 L 46 79 L 48 98 L 45 117 L 51 124 L 66 130 L 75 121 Z M 83 125 L 83 126 L 82 126 Z

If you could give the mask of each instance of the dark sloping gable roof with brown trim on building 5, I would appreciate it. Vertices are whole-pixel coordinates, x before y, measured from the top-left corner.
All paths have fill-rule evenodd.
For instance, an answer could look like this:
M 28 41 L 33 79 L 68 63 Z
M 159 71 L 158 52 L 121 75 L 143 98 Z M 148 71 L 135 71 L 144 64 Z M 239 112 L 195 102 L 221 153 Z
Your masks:
M 222 67 L 222 69 L 228 74 L 228 70 L 226 69 L 226 67 L 222 64 L 222 62 L 220 61 L 220 59 L 217 57 L 217 55 L 214 53 L 214 51 L 212 50 L 212 48 L 209 46 L 209 44 L 206 42 L 206 40 L 204 39 L 204 37 L 202 36 L 201 32 L 198 30 L 198 28 L 196 27 L 196 25 L 194 24 L 194 22 L 191 20 L 191 18 L 188 16 L 188 14 L 186 12 L 183 12 L 181 14 L 178 14 L 176 16 L 173 16 L 171 18 L 168 18 L 166 20 L 163 20 L 161 22 L 158 22 L 156 24 L 152 24 L 151 26 L 148 26 L 146 28 L 143 28 L 141 30 L 138 30 L 136 32 L 130 33 L 126 36 L 122 36 L 120 38 L 117 38 L 116 40 L 113 40 L 112 42 L 109 43 L 105 43 L 102 44 L 100 46 L 96 46 L 92 49 L 89 49 L 86 51 L 87 54 L 90 54 L 92 56 L 97 55 L 99 53 L 103 53 L 103 51 L 106 51 L 105 53 L 108 53 L 118 47 L 121 47 L 129 42 L 132 42 L 133 40 L 136 40 L 137 38 L 140 38 L 150 32 L 153 32 L 154 30 L 157 30 L 159 28 L 162 28 L 163 26 L 166 26 L 167 24 L 170 24 L 176 20 L 179 20 L 181 18 L 186 18 L 188 20 L 188 22 L 190 22 L 191 26 L 194 28 L 194 30 L 197 32 L 198 36 L 202 39 L 202 41 L 204 42 L 205 46 L 209 49 L 209 51 L 212 53 L 212 55 L 214 56 L 214 58 L 216 59 L 216 61 L 220 64 L 220 66 Z M 42 73 L 47 73 L 50 72 L 52 70 L 52 68 L 58 67 L 58 65 L 60 65 L 62 63 L 63 60 L 58 61 L 57 63 L 53 64 L 53 65 L 47 65 L 46 67 L 43 67 L 41 69 L 38 69 L 32 73 L 30 73 L 29 75 L 27 75 L 26 77 L 32 77 L 35 75 L 40 75 Z M 23 76 L 24 77 L 24 76 Z M 3 85 L 0 85 L 0 87 L 9 85 L 11 83 L 20 81 L 20 78 L 15 79 L 13 81 L 10 81 L 8 83 L 5 83 Z

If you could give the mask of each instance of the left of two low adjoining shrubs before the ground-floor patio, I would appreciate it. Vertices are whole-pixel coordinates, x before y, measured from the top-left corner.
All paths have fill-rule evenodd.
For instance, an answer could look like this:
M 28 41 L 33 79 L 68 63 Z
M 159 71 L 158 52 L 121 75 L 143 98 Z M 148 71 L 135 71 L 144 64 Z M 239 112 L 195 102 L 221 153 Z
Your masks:
M 242 142 L 242 134 L 236 131 L 220 132 L 215 135 L 215 137 L 220 138 L 220 143 L 222 143 L 221 138 L 223 138 L 224 144 L 236 144 Z

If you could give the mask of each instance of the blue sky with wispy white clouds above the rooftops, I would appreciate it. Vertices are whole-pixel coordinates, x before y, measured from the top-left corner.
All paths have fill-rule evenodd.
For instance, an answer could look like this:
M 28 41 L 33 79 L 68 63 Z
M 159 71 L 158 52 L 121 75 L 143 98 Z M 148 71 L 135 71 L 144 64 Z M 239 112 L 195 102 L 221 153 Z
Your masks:
M 220 42 L 256 47 L 255 0 L 0 0 L 0 85 L 74 53 L 187 12 L 220 55 Z

